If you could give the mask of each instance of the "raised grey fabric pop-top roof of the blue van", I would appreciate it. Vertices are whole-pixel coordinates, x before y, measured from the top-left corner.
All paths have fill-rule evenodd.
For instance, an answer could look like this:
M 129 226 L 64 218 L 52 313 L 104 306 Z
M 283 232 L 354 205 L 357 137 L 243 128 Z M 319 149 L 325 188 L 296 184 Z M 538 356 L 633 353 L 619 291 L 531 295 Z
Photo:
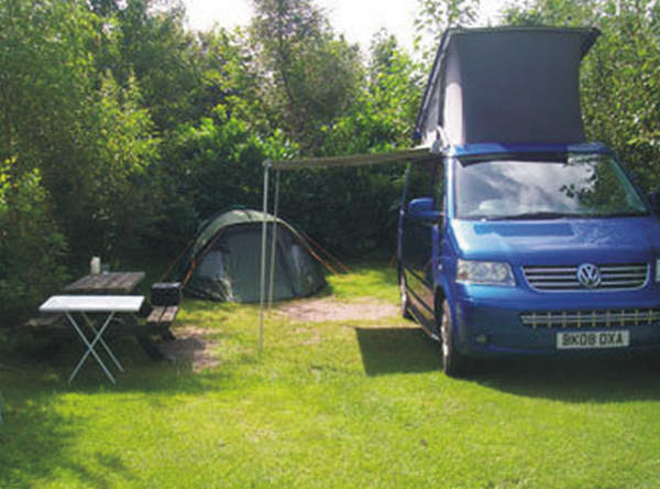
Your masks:
M 597 29 L 449 29 L 416 134 L 421 145 L 581 143 L 579 69 Z

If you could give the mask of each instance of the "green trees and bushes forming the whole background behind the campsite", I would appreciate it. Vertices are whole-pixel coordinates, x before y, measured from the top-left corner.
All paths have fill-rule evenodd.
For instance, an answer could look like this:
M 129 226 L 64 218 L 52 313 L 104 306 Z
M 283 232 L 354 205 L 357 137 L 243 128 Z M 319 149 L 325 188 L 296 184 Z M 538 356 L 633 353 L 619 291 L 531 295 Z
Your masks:
M 188 32 L 176 0 L 0 2 L 0 334 L 92 254 L 172 260 L 199 222 L 260 207 L 267 159 L 411 144 L 438 36 L 479 0 L 418 0 L 415 53 L 361 53 L 311 0 L 253 0 L 250 26 Z M 596 25 L 588 138 L 658 188 L 660 7 L 530 0 L 506 24 Z M 282 214 L 341 254 L 394 248 L 400 167 L 294 172 Z

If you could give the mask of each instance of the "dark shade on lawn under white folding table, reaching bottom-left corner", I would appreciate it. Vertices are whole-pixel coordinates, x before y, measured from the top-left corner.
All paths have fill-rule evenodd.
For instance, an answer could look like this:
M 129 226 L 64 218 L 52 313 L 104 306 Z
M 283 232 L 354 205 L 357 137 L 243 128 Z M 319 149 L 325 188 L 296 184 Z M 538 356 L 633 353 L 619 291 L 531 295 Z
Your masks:
M 239 355 L 233 363 L 195 373 L 191 361 L 152 360 L 135 338 L 122 337 L 108 343 L 125 369 L 124 373 L 117 372 L 111 360 L 101 354 L 117 384 L 110 382 L 92 358 L 87 359 L 73 383 L 68 383 L 72 370 L 85 351 L 79 340 L 68 341 L 44 358 L 38 357 L 41 349 L 36 346 L 32 351 L 0 351 L 3 365 L 11 366 L 11 370 L 0 370 L 3 402 L 0 488 L 36 487 L 59 479 L 80 487 L 135 485 L 138 476 L 112 453 L 112 447 L 106 449 L 102 441 L 94 447 L 91 458 L 79 458 L 76 442 L 84 438 L 81 430 L 89 421 L 89 412 L 63 413 L 63 398 L 138 393 L 154 409 L 160 403 L 167 404 L 172 394 L 196 395 L 223 390 L 235 382 L 237 362 L 256 361 Z M 76 402 L 85 402 L 85 398 L 81 399 Z M 108 402 L 112 405 L 111 400 Z

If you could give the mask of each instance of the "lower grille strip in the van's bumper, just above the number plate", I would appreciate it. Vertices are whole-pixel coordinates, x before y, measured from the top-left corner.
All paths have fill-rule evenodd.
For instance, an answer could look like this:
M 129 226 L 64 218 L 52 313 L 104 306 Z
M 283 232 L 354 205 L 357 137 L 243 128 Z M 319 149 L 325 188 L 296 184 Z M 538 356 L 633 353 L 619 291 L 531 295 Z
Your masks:
M 660 309 L 535 311 L 520 314 L 522 326 L 536 328 L 596 328 L 653 325 Z

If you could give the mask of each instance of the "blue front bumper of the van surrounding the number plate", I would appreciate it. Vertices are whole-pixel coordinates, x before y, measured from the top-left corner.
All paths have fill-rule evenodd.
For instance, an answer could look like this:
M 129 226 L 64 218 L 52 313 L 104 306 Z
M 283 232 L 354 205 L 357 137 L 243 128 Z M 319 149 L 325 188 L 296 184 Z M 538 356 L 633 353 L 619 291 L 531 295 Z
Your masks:
M 476 357 L 660 350 L 660 293 L 548 294 L 462 286 L 452 304 L 459 350 Z M 561 333 L 627 332 L 627 346 L 558 347 Z M 581 337 L 593 335 L 578 335 Z

